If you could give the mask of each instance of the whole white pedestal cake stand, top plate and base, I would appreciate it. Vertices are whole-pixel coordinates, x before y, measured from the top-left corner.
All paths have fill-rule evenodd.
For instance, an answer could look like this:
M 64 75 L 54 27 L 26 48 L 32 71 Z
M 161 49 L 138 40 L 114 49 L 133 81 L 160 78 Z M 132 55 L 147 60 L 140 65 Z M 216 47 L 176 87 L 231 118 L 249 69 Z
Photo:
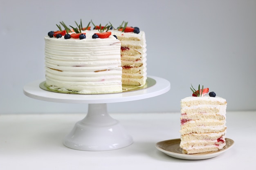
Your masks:
M 78 121 L 65 137 L 64 145 L 76 150 L 102 151 L 124 148 L 132 144 L 132 137 L 119 121 L 110 117 L 107 103 L 128 102 L 162 95 L 171 88 L 170 82 L 159 77 L 152 77 L 155 84 L 148 88 L 123 93 L 79 95 L 55 93 L 43 90 L 37 80 L 24 86 L 23 92 L 28 97 L 48 102 L 89 104 L 88 113 Z

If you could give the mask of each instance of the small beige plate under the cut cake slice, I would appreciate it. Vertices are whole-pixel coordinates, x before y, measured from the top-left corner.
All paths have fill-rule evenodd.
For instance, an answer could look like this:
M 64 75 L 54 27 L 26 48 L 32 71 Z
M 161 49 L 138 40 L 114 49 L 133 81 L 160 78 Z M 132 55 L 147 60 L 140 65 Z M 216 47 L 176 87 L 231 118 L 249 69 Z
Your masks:
M 180 148 L 180 139 L 171 139 L 166 141 L 160 141 L 155 144 L 155 147 L 164 152 L 166 155 L 175 157 L 178 159 L 188 159 L 188 160 L 200 160 L 200 159 L 209 159 L 217 157 L 223 152 L 227 151 L 234 144 L 232 139 L 226 138 L 226 146 L 223 149 L 212 152 L 197 153 L 197 154 L 182 154 L 182 149 Z

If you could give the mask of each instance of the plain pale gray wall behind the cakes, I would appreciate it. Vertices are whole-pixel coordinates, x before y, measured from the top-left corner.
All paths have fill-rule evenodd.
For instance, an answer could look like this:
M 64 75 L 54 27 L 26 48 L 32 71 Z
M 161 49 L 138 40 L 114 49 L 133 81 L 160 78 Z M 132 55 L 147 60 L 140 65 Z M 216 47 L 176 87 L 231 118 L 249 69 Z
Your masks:
M 171 83 L 164 95 L 108 104 L 110 113 L 179 112 L 191 84 L 227 99 L 227 110 L 256 110 L 255 0 L 1 0 L 1 114 L 87 112 L 87 104 L 44 102 L 22 92 L 45 76 L 47 32 L 80 19 L 138 26 L 146 33 L 148 75 Z

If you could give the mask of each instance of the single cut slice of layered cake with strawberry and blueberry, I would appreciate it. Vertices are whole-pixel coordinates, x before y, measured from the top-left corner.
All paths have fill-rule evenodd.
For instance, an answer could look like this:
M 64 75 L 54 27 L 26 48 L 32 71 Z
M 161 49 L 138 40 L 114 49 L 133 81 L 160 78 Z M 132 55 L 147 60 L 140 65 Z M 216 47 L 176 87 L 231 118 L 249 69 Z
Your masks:
M 181 100 L 180 148 L 183 154 L 195 154 L 221 150 L 225 145 L 226 99 L 216 97 L 209 88 L 198 91 Z

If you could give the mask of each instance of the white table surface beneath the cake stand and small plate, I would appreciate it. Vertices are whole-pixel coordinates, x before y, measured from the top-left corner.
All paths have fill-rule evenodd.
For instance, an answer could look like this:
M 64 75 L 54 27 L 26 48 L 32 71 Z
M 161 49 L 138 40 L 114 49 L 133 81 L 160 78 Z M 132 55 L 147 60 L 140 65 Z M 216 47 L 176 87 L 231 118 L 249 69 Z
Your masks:
M 0 170 L 232 170 L 254 169 L 256 111 L 227 112 L 226 137 L 234 146 L 218 157 L 182 160 L 155 148 L 180 137 L 180 113 L 110 113 L 134 143 L 110 151 L 67 148 L 63 139 L 85 114 L 0 115 Z

